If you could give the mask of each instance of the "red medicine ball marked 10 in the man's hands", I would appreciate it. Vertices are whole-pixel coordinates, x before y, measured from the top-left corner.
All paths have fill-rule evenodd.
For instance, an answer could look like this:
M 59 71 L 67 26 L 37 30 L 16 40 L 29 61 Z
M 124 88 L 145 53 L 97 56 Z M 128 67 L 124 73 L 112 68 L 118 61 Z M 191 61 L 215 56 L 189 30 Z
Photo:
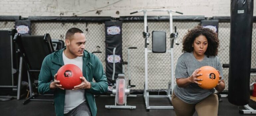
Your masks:
M 57 80 L 64 89 L 73 89 L 82 83 L 80 77 L 83 77 L 81 69 L 74 64 L 66 64 L 58 70 Z

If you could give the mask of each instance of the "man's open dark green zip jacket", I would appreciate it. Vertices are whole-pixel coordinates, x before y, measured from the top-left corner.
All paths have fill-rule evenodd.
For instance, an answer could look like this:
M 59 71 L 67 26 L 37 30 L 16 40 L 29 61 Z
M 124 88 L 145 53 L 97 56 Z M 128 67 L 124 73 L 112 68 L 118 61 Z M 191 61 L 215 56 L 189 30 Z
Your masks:
M 53 52 L 45 57 L 39 74 L 38 91 L 40 94 L 50 93 L 51 80 L 57 74 L 61 66 L 64 65 L 62 53 L 63 48 Z M 104 73 L 103 66 L 99 58 L 88 51 L 84 50 L 83 55 L 83 76 L 91 83 L 90 89 L 85 89 L 85 98 L 90 107 L 93 116 L 97 114 L 97 107 L 94 99 L 94 93 L 104 93 L 108 90 L 107 77 Z M 96 82 L 93 82 L 93 79 Z M 65 90 L 56 88 L 54 90 L 55 113 L 57 116 L 64 115 Z

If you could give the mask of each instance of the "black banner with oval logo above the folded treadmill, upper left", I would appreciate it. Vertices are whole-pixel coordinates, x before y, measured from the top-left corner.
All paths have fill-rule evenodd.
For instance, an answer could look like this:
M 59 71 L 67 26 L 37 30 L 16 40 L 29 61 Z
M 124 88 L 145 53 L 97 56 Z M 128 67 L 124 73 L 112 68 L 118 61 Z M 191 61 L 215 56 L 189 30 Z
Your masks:
M 15 21 L 15 29 L 18 33 L 24 35 L 31 34 L 31 22 L 30 20 L 17 20 Z

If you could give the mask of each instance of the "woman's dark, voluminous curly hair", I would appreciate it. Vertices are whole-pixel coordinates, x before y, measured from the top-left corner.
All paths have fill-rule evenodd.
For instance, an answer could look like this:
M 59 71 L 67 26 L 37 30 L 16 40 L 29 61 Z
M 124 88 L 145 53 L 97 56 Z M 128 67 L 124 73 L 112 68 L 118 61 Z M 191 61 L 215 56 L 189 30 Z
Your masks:
M 218 54 L 219 48 L 219 39 L 216 32 L 211 29 L 203 28 L 201 26 L 197 26 L 191 30 L 188 30 L 186 35 L 183 37 L 182 44 L 183 49 L 182 52 L 192 52 L 193 47 L 192 44 L 196 37 L 199 35 L 204 35 L 208 41 L 208 47 L 206 49 L 205 55 L 207 56 L 216 56 Z

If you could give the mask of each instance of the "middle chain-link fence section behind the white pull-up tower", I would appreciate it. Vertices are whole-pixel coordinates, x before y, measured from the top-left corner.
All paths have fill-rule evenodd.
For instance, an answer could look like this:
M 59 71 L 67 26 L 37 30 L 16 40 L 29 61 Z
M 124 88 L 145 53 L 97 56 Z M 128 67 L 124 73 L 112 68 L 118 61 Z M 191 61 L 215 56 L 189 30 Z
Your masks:
M 197 26 L 200 22 L 173 22 L 178 31 L 178 42 L 181 43 L 182 36 L 188 29 Z M 166 32 L 166 49 L 170 49 L 170 29 L 169 22 L 148 22 L 148 31 L 153 30 Z M 131 84 L 136 85 L 132 89 L 144 88 L 144 31 L 143 22 L 123 23 L 123 49 L 137 47 L 138 49 L 130 52 L 130 78 Z M 148 49 L 152 50 L 152 39 L 150 36 Z M 182 44 L 174 45 L 174 66 L 178 57 L 182 54 Z M 127 60 L 127 51 L 123 50 L 123 59 Z M 168 82 L 171 80 L 171 59 L 170 53 L 148 53 L 148 89 L 167 89 Z

